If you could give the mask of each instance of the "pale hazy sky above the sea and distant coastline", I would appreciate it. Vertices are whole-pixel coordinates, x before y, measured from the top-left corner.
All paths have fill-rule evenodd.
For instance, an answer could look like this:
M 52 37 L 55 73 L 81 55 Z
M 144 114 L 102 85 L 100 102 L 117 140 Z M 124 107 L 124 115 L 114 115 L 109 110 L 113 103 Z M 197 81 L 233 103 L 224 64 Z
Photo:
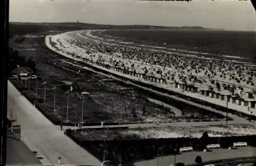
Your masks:
M 12 22 L 77 20 L 113 25 L 203 26 L 256 31 L 256 14 L 250 1 L 10 0 Z

